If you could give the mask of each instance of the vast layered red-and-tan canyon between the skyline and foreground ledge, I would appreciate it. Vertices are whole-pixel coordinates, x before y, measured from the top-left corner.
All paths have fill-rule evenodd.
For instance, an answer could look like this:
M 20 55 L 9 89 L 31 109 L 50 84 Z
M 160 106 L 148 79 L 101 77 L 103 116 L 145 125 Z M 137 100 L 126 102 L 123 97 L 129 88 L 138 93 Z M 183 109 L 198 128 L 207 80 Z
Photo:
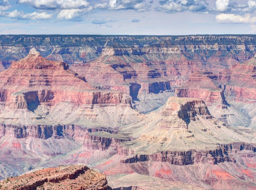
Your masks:
M 256 189 L 256 35 L 0 43 L 1 180 L 82 167 L 93 184 L 88 165 L 95 189 Z

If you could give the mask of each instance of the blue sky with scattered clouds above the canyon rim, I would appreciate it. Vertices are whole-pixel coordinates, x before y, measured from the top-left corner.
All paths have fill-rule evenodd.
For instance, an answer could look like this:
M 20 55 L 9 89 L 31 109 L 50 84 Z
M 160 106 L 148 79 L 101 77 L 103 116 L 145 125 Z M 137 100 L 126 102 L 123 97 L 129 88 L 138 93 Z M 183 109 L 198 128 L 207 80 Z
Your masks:
M 256 0 L 0 0 L 0 34 L 256 34 Z

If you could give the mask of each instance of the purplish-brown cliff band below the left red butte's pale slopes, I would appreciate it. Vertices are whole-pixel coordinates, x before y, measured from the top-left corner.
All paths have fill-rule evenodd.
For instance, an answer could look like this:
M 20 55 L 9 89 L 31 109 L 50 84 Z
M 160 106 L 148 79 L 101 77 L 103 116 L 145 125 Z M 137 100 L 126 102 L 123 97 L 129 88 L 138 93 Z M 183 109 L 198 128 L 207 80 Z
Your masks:
M 64 135 L 81 142 L 87 149 L 105 151 L 109 147 L 117 149 L 119 144 L 129 141 L 128 138 L 115 137 L 116 131 L 109 129 L 85 128 L 79 125 L 10 125 L 0 124 L 0 137 L 8 136 L 17 139 L 33 137 L 38 139 L 60 139 Z

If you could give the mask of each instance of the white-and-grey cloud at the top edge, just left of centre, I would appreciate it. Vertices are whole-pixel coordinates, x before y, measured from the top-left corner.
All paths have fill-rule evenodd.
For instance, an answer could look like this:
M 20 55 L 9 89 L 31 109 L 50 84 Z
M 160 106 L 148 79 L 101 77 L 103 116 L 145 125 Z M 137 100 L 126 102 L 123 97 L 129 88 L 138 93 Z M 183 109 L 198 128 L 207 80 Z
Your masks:
M 144 12 L 149 10 L 150 4 L 147 4 L 145 0 L 109 0 L 107 3 L 98 3 L 94 8 L 108 9 L 108 10 L 122 10 L 133 9 L 138 12 Z

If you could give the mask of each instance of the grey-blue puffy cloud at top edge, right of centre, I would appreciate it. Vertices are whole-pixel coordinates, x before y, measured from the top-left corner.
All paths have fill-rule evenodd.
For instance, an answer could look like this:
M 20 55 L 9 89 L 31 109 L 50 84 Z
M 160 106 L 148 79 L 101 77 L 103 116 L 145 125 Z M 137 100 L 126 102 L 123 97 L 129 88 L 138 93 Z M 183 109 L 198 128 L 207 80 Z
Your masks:
M 207 3 L 205 0 L 163 0 L 159 2 L 160 6 L 156 7 L 157 11 L 166 13 L 184 12 L 206 12 Z

